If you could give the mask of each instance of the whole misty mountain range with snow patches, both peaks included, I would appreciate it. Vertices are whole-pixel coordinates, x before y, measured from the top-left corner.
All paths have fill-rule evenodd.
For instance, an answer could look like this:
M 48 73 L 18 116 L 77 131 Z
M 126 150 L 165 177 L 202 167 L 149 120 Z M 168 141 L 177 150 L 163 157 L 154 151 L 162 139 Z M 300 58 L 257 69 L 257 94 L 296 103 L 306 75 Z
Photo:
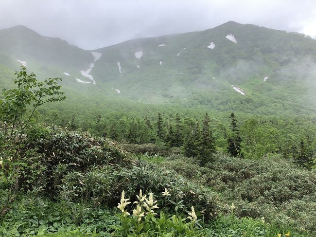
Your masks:
M 0 70 L 17 69 L 16 60 L 26 58 L 35 73 L 63 76 L 66 89 L 91 100 L 257 114 L 316 112 L 316 40 L 298 33 L 229 21 L 89 52 L 24 26 L 0 30 Z

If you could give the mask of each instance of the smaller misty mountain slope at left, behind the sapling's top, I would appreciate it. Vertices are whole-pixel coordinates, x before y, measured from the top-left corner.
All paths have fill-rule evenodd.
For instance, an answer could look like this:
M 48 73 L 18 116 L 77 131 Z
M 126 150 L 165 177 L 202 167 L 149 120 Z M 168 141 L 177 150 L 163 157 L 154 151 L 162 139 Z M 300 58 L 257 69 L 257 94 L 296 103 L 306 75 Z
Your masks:
M 17 69 L 20 62 L 41 76 L 64 75 L 93 62 L 90 52 L 59 38 L 37 34 L 25 26 L 0 30 L 0 63 Z

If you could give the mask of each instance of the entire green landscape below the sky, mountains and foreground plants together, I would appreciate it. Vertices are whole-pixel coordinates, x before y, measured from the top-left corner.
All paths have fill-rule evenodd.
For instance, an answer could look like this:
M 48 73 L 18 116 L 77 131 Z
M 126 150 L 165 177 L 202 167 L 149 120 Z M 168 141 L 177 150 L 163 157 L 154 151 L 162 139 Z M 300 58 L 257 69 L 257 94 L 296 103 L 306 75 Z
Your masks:
M 0 237 L 315 237 L 315 64 L 233 21 L 92 51 L 0 30 Z

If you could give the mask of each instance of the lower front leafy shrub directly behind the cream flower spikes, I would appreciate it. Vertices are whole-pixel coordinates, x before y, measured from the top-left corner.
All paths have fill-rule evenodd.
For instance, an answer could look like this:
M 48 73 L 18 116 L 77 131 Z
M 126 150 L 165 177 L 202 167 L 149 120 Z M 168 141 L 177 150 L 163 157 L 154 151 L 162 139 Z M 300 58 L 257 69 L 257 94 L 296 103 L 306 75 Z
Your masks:
M 121 166 L 93 166 L 83 174 L 69 172 L 59 185 L 59 200 L 76 202 L 80 200 L 115 206 L 120 199 L 121 190 L 126 190 L 131 201 L 136 201 L 136 193 L 142 189 L 153 193 L 162 193 L 165 187 L 170 190 L 171 200 L 164 203 L 163 196 L 156 196 L 158 203 L 165 204 L 166 210 L 175 211 L 182 201 L 180 209 L 189 209 L 192 205 L 203 210 L 206 219 L 215 216 L 216 198 L 202 188 L 196 187 L 176 172 L 156 168 L 150 164 L 134 164 L 131 168 Z M 181 211 L 180 211 L 181 213 Z

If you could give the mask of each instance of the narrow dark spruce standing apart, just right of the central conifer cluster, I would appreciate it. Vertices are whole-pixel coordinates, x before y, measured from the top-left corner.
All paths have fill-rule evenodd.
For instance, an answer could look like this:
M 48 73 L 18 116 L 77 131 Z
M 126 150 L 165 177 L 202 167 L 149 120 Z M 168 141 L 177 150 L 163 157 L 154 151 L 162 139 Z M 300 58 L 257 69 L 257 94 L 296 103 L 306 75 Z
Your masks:
M 231 128 L 232 133 L 230 134 L 230 136 L 228 136 L 228 139 L 227 139 L 228 152 L 230 155 L 237 157 L 237 156 L 240 156 L 242 139 L 239 135 L 239 128 L 238 128 L 237 120 L 235 118 L 234 113 L 230 114 L 230 119 L 231 119 L 230 128 Z

